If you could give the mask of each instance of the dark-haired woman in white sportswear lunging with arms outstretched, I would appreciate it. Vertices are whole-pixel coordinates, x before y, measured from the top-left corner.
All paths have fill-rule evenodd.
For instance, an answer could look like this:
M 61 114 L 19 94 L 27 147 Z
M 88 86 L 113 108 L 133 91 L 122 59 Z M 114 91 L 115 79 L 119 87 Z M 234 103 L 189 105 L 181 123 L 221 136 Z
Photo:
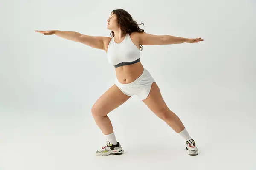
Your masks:
M 138 96 L 152 112 L 186 140 L 186 149 L 189 155 L 197 155 L 198 149 L 195 146 L 195 141 L 189 136 L 179 117 L 167 107 L 160 89 L 149 71 L 143 68 L 140 62 L 140 51 L 143 45 L 196 43 L 203 41 L 203 39 L 147 34 L 123 9 L 113 10 L 107 21 L 107 28 L 111 30 L 111 37 L 89 36 L 73 31 L 36 30 L 36 32 L 44 35 L 55 34 L 67 40 L 105 50 L 108 62 L 115 67 L 115 84 L 99 97 L 91 109 L 96 124 L 107 138 L 105 147 L 97 150 L 96 155 L 119 155 L 124 152 L 116 140 L 111 121 L 107 115 L 133 95 Z

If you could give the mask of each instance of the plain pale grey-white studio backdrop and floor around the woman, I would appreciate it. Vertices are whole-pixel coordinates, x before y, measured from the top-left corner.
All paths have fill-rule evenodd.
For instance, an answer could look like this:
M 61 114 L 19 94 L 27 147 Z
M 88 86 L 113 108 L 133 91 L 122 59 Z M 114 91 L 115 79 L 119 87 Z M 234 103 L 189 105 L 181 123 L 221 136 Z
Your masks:
M 105 136 L 90 111 L 114 67 L 103 50 L 34 30 L 110 37 L 117 8 L 149 34 L 204 39 L 140 57 L 198 156 L 137 96 L 108 114 L 125 153 L 94 155 Z M 0 14 L 0 170 L 256 169 L 256 1 L 12 0 Z

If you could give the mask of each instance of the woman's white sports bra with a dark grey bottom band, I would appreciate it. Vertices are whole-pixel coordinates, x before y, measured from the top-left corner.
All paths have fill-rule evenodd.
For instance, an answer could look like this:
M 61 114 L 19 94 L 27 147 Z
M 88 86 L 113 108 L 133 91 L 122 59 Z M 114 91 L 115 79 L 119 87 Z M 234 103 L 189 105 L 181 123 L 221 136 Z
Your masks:
M 116 43 L 114 37 L 112 37 L 108 44 L 107 57 L 108 62 L 117 68 L 139 62 L 140 50 L 131 41 L 130 35 L 126 34 L 125 39 L 120 43 Z

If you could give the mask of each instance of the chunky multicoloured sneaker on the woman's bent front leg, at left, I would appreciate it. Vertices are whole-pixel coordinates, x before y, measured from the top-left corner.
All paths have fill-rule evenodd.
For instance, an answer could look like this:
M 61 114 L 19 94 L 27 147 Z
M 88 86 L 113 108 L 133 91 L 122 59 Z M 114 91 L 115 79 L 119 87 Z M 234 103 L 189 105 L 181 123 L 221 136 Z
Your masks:
M 119 142 L 116 145 L 111 144 L 110 142 L 106 142 L 106 145 L 102 147 L 100 150 L 96 150 L 96 156 L 107 156 L 110 154 L 113 155 L 121 155 L 124 152 Z

